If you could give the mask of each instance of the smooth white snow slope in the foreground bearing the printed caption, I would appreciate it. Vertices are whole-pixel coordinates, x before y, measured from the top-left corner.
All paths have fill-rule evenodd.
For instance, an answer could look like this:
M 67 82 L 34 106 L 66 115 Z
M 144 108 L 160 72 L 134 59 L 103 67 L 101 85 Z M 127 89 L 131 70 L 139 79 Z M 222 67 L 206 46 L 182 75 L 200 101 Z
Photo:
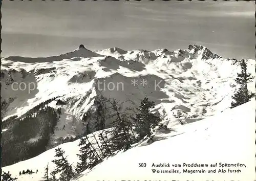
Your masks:
M 220 114 L 186 125 L 172 126 L 173 131 L 156 133 L 155 142 L 140 143 L 138 146 L 118 153 L 104 160 L 92 170 L 86 170 L 73 178 L 73 181 L 96 180 L 255 180 L 255 101 L 252 100 Z M 79 140 L 59 145 L 68 155 L 68 161 L 76 165 Z M 18 180 L 41 180 L 44 167 L 49 162 L 53 169 L 54 148 L 32 159 L 3 168 L 3 171 L 18 177 Z M 146 163 L 146 167 L 139 167 Z M 152 164 L 169 163 L 168 168 L 154 168 Z M 183 167 L 186 164 L 208 164 L 208 167 Z M 217 167 L 210 164 L 218 163 Z M 245 164 L 246 167 L 219 167 L 222 164 Z M 172 168 L 172 164 L 182 167 Z M 228 168 L 241 170 L 241 173 L 228 173 Z M 37 173 L 21 175 L 21 170 L 32 169 Z M 152 173 L 152 169 L 180 170 L 179 173 Z M 206 170 L 206 173 L 183 173 L 187 170 Z M 207 170 L 216 169 L 216 173 Z M 224 169 L 226 173 L 218 173 Z

